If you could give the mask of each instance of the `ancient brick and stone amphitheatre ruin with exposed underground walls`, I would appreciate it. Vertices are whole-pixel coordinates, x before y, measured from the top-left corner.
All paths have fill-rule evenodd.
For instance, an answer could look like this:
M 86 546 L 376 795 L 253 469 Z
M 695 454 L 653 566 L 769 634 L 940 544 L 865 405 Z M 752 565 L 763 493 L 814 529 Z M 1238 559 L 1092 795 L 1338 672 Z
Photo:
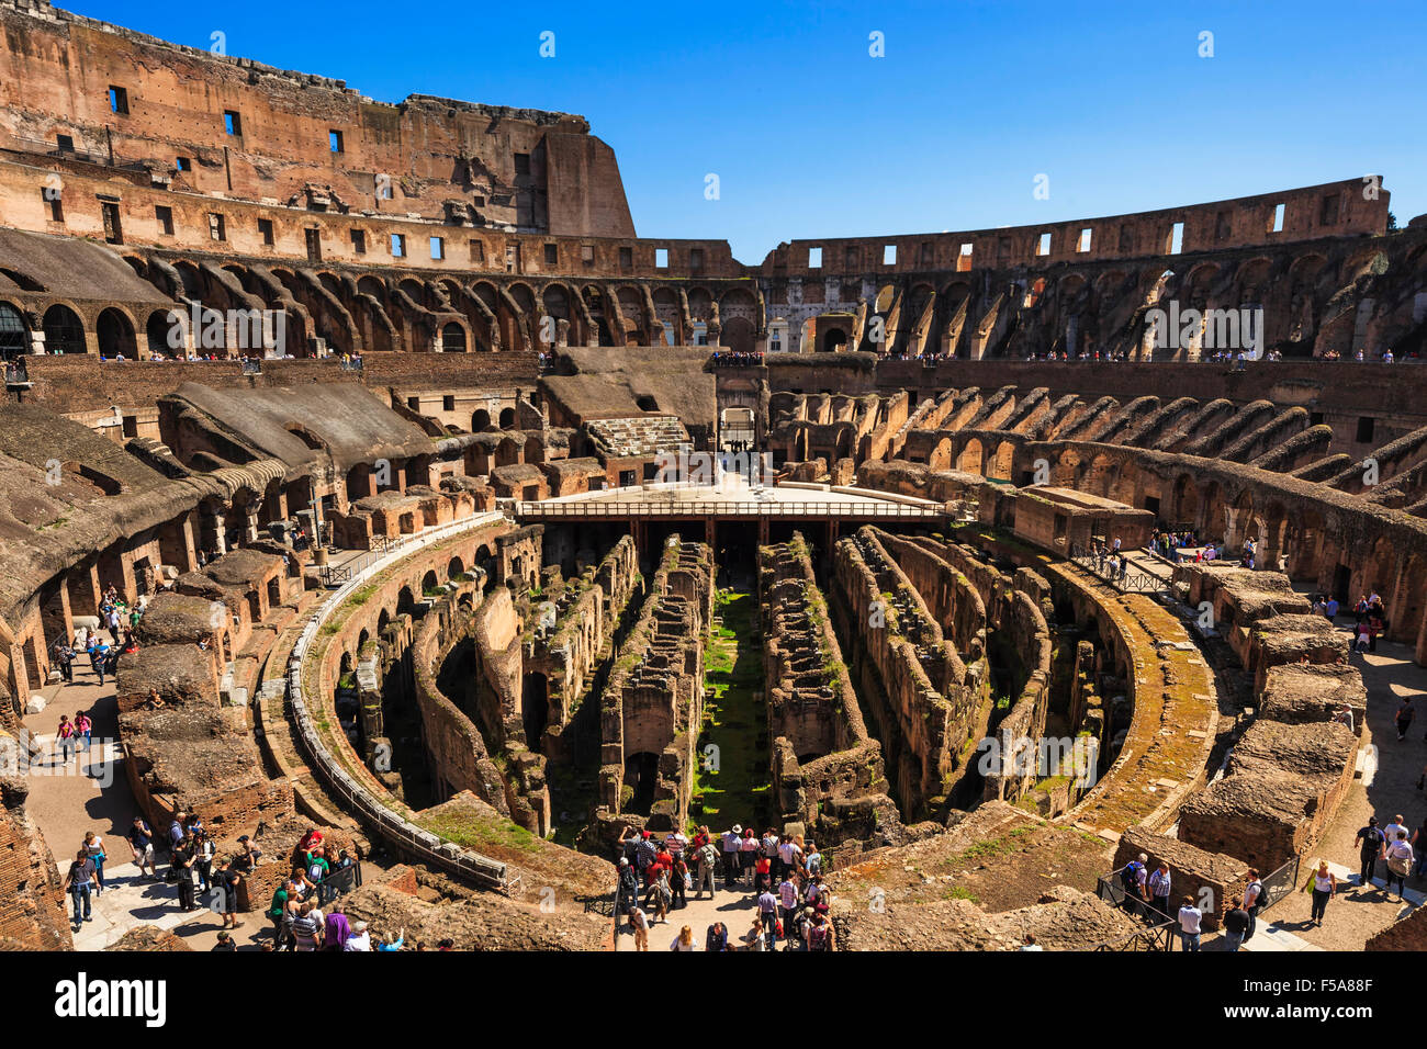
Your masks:
M 207 949 L 66 922 L 81 775 L 121 886 L 130 815 L 241 861 L 244 948 L 314 828 L 464 949 L 632 949 L 702 833 L 852 951 L 1159 949 L 1140 853 L 1219 935 L 1341 851 L 1427 665 L 1386 188 L 742 263 L 585 117 L 0 26 L 0 948 Z

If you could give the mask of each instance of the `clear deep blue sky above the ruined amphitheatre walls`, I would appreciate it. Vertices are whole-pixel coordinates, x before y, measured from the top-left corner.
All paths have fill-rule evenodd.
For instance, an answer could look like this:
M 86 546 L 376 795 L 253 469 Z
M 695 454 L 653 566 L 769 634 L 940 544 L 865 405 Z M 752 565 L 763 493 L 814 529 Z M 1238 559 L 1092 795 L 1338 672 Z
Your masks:
M 619 158 L 639 235 L 725 238 L 745 263 L 798 237 L 1062 221 L 1367 173 L 1398 224 L 1427 211 L 1423 3 L 59 6 L 200 47 L 221 30 L 230 54 L 382 101 L 581 113 Z

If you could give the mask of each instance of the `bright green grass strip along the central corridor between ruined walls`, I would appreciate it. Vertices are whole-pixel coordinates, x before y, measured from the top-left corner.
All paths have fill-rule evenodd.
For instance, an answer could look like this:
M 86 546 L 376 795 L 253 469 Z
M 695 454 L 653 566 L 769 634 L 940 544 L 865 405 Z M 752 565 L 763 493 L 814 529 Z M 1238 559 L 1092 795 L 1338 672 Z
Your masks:
M 752 594 L 719 591 L 715 611 L 722 624 L 711 629 L 704 655 L 704 726 L 694 771 L 691 822 L 745 826 L 768 821 L 772 771 L 766 748 L 763 651 L 758 634 L 758 602 Z M 704 748 L 718 746 L 718 769 L 704 768 Z

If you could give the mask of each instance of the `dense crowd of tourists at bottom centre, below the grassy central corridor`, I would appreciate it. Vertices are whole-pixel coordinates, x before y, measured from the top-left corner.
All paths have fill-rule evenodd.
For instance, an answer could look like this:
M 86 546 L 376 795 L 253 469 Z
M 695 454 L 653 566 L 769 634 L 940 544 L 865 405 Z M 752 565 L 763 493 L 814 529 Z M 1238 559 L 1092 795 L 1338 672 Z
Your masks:
M 615 925 L 624 918 L 636 951 L 649 949 L 649 928 L 688 906 L 688 892 L 702 899 L 723 892 L 748 893 L 756 908 L 746 932 L 732 933 L 723 922 L 708 926 L 704 941 L 684 925 L 672 951 L 836 951 L 829 918 L 832 895 L 823 882 L 823 858 L 802 835 L 759 835 L 735 824 L 715 836 L 706 826 L 694 838 L 671 831 L 662 841 L 649 831 L 625 828 L 618 841 L 619 876 L 615 886 Z M 642 896 L 641 896 L 642 893 Z

